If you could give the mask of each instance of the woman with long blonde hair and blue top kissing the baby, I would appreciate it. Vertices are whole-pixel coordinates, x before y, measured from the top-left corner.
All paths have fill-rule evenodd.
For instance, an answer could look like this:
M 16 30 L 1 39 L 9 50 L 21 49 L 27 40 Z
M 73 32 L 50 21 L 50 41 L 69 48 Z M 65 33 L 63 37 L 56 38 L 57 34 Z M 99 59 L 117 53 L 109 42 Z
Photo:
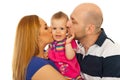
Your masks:
M 17 27 L 13 55 L 13 80 L 65 80 L 44 48 L 52 42 L 51 29 L 37 15 L 24 16 Z

